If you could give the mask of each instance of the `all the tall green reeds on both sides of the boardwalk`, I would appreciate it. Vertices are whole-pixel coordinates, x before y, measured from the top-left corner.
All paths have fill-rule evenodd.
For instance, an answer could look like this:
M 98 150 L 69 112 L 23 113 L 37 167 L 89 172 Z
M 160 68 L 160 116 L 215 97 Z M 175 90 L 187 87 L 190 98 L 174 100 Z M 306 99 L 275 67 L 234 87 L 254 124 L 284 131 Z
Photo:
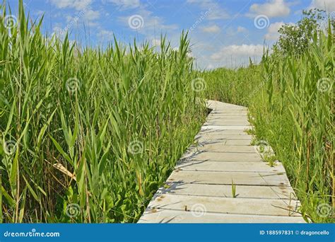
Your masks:
M 11 28 L 1 8 L 2 222 L 137 221 L 204 122 L 205 96 L 248 106 L 249 132 L 285 166 L 300 212 L 334 221 L 320 214 L 334 202 L 330 27 L 300 57 L 266 53 L 258 65 L 205 71 L 205 85 L 187 34 L 177 51 L 163 37 L 159 51 L 81 47 L 43 36 L 22 1 Z

